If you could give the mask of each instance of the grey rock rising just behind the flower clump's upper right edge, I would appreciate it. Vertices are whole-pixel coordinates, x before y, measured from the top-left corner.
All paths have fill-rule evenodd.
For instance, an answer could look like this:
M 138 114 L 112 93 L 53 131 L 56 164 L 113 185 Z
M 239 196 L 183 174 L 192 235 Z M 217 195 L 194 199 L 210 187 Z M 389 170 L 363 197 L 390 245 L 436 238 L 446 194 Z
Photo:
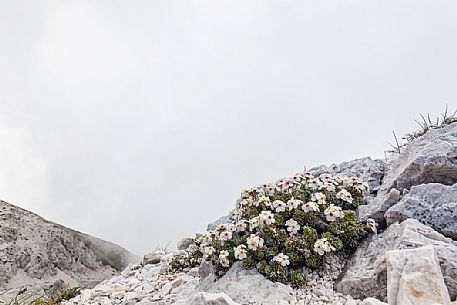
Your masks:
M 327 173 L 357 177 L 367 182 L 371 191 L 377 191 L 384 177 L 385 162 L 383 160 L 372 160 L 370 157 L 365 157 L 330 166 L 321 165 L 312 168 L 310 171 L 314 175 Z

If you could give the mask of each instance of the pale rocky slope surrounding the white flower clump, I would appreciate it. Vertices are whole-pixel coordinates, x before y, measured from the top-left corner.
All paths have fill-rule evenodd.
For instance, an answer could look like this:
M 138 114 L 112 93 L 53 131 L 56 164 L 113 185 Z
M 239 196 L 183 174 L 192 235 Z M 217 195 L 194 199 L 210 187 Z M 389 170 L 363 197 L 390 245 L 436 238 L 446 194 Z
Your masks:
M 363 158 L 312 172 L 367 181 L 371 192 L 358 217 L 380 227 L 350 257 L 328 255 L 321 271 L 305 269 L 305 288 L 272 283 L 240 263 L 222 277 L 207 263 L 174 273 L 171 259 L 188 256 L 192 247 L 186 238 L 178 251 L 147 255 L 66 305 L 457 304 L 451 302 L 457 297 L 457 123 L 428 131 L 387 162 Z

